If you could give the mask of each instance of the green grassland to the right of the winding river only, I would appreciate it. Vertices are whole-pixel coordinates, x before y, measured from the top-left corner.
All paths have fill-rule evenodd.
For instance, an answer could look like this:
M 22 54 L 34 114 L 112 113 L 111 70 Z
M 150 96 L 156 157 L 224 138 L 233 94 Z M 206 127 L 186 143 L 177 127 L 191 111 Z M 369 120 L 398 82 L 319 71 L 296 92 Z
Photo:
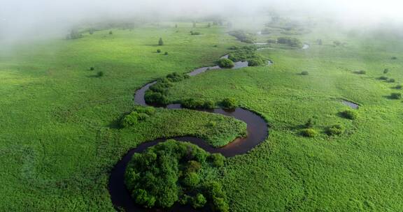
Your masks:
M 324 45 L 314 45 L 320 37 Z M 232 210 L 400 211 L 403 104 L 388 98 L 402 93 L 393 89 L 403 81 L 400 40 L 336 31 L 299 38 L 311 47 L 260 52 L 273 66 L 210 72 L 171 89 L 171 100 L 236 98 L 269 120 L 266 142 L 227 160 L 222 182 Z M 347 44 L 334 47 L 333 40 Z M 396 83 L 377 79 L 384 68 Z M 304 70 L 309 75 L 299 74 Z M 367 74 L 353 73 L 356 70 Z M 338 115 L 348 109 L 341 99 L 360 104 L 358 119 Z M 318 137 L 299 135 L 310 118 L 316 121 Z M 334 124 L 346 128 L 343 135 L 323 133 Z

